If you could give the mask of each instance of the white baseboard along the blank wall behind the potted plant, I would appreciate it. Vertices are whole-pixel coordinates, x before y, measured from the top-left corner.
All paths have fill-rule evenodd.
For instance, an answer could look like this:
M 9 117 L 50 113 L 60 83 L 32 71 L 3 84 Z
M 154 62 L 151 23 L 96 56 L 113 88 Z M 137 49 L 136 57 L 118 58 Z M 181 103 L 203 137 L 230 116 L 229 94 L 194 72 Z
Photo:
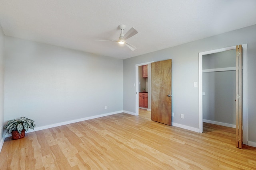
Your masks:
M 54 123 L 52 125 L 46 125 L 46 126 L 40 126 L 40 127 L 35 127 L 34 130 L 32 129 L 29 129 L 26 133 L 29 133 L 29 132 L 34 132 L 34 131 L 40 131 L 40 130 L 44 130 L 44 129 L 49 129 L 49 128 L 52 128 L 52 127 L 58 127 L 58 126 L 62 126 L 62 125 L 68 125 L 70 123 L 76 123 L 76 122 L 79 122 L 79 121 L 85 121 L 85 120 L 89 120 L 89 119 L 95 119 L 95 118 L 98 118 L 98 117 L 104 117 L 104 116 L 108 116 L 108 115 L 114 115 L 114 114 L 117 114 L 117 113 L 122 113 L 123 111 L 114 111 L 114 112 L 111 112 L 111 113 L 105 113 L 105 114 L 101 114 L 101 115 L 95 115 L 95 116 L 90 116 L 90 117 L 84 117 L 84 118 L 81 118 L 81 119 L 75 119 L 75 120 L 71 120 L 71 121 L 64 121 L 64 122 L 60 122 L 60 123 Z M 11 134 L 6 134 L 5 137 L 10 137 L 12 136 Z

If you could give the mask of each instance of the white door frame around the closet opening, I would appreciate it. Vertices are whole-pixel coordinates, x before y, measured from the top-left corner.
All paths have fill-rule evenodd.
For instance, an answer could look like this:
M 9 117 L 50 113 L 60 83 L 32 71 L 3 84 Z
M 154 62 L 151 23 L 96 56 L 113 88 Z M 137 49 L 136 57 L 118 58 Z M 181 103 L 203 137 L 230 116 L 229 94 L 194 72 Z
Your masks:
M 247 105 L 247 44 L 242 44 L 243 47 L 243 130 L 244 130 L 244 141 L 243 143 L 245 145 L 248 144 L 248 105 Z M 236 49 L 236 46 L 232 47 L 226 47 L 222 49 L 215 49 L 211 51 L 205 51 L 198 54 L 199 57 L 199 132 L 203 132 L 203 100 L 202 100 L 202 93 L 203 93 L 203 87 L 202 87 L 202 80 L 203 80 L 203 74 L 202 74 L 202 59 L 203 55 L 212 54 L 212 53 L 218 53 L 222 51 L 232 50 Z

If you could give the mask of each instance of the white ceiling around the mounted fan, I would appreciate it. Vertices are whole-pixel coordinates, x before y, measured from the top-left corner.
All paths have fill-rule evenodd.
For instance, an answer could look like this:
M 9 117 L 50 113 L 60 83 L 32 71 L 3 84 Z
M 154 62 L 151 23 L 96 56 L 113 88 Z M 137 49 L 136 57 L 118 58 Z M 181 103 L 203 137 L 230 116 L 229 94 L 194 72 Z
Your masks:
M 118 25 L 131 51 L 116 42 Z M 256 0 L 0 0 L 5 35 L 127 59 L 256 24 Z

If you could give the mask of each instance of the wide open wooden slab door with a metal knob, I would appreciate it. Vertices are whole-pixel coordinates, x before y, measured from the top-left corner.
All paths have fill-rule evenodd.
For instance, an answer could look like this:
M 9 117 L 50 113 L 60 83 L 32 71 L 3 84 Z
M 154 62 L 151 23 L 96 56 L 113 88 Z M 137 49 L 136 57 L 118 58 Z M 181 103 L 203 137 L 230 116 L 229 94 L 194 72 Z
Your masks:
M 172 60 L 151 63 L 151 119 L 172 123 Z

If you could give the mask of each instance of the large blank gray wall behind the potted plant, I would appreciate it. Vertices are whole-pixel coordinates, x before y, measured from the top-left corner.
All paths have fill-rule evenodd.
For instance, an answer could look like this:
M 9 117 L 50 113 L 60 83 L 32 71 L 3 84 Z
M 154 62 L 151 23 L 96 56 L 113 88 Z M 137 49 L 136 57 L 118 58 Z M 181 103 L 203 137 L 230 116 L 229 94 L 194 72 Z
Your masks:
M 4 120 L 40 127 L 122 111 L 122 69 L 120 59 L 6 36 Z

